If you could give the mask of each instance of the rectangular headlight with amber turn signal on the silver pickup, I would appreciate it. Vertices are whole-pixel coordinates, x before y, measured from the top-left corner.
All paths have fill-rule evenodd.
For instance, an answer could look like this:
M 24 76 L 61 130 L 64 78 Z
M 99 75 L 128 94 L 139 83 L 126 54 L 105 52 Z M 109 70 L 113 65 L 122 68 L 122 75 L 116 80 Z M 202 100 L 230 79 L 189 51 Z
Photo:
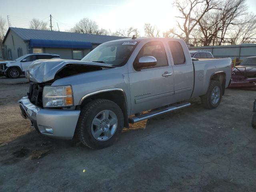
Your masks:
M 70 85 L 66 86 L 44 86 L 44 107 L 67 107 L 73 106 L 73 92 Z

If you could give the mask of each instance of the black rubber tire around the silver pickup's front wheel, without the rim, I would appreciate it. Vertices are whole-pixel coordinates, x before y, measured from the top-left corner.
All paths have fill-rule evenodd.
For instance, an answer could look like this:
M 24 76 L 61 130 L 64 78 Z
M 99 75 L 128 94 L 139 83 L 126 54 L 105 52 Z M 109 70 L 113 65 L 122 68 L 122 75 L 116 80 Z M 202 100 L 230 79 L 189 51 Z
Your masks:
M 102 110 L 111 110 L 117 117 L 118 123 L 114 134 L 106 141 L 99 141 L 92 135 L 92 121 L 94 117 Z M 106 99 L 97 99 L 89 102 L 82 107 L 78 124 L 76 126 L 76 134 L 85 146 L 92 149 L 101 149 L 111 146 L 118 140 L 118 136 L 124 127 L 124 115 L 121 108 L 114 102 Z

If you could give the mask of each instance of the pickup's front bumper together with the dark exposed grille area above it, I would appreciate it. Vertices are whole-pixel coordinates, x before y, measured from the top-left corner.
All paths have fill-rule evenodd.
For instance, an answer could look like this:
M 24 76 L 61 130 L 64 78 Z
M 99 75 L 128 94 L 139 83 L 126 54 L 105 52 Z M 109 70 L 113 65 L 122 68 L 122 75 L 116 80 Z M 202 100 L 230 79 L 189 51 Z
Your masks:
M 72 139 L 80 110 L 68 108 L 44 108 L 43 90 L 50 83 L 30 82 L 28 96 L 22 97 L 20 104 L 21 115 L 28 118 L 32 126 L 41 134 Z

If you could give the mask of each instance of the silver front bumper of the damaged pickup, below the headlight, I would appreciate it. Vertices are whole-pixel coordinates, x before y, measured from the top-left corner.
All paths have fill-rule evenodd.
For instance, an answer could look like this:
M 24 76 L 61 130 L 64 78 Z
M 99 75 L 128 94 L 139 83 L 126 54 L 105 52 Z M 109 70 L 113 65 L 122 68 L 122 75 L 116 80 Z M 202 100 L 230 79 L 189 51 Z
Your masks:
M 40 108 L 32 104 L 27 96 L 18 103 L 22 117 L 30 119 L 41 134 L 54 138 L 73 138 L 80 110 Z

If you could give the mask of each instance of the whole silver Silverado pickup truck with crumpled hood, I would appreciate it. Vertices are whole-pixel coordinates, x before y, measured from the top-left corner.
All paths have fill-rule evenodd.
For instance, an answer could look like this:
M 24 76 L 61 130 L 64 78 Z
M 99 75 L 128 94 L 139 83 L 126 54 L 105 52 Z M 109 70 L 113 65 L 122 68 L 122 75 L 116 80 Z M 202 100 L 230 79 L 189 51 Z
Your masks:
M 82 60 L 37 60 L 26 71 L 21 114 L 41 134 L 94 149 L 123 127 L 190 106 L 216 108 L 231 76 L 230 58 L 193 59 L 181 39 L 127 38 L 101 44 Z

